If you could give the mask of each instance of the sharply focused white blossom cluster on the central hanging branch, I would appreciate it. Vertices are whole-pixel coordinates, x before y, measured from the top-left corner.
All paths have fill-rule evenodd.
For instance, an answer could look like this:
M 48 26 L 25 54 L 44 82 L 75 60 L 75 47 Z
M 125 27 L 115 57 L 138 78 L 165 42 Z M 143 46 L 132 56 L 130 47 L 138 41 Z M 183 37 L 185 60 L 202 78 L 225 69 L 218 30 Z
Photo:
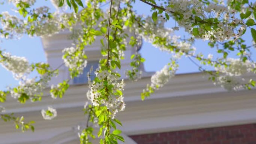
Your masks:
M 94 106 L 106 105 L 111 111 L 112 118 L 115 117 L 116 113 L 125 109 L 124 97 L 122 91 L 124 90 L 124 80 L 119 82 L 120 76 L 117 73 L 109 73 L 107 70 L 101 71 L 97 68 L 95 71 L 97 80 L 89 82 L 90 91 L 87 92 L 87 97 Z M 103 89 L 106 88 L 107 80 L 107 97 L 102 93 Z

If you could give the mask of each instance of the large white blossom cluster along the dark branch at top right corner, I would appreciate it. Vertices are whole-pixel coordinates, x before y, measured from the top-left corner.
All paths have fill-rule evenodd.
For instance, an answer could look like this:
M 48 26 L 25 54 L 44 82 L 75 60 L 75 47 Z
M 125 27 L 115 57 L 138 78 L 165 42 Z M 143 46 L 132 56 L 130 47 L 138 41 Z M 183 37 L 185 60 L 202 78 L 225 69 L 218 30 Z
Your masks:
M 242 19 L 235 18 L 233 9 L 222 4 L 204 5 L 199 0 L 170 0 L 165 12 L 173 16 L 186 32 L 205 40 L 238 39 L 247 27 Z

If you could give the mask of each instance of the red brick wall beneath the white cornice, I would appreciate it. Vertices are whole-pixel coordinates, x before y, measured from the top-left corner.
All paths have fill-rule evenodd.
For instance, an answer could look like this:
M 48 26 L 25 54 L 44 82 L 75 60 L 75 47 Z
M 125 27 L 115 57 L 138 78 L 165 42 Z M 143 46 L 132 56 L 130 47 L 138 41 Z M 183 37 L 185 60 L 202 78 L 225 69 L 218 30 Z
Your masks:
M 130 136 L 138 144 L 256 144 L 256 124 Z

